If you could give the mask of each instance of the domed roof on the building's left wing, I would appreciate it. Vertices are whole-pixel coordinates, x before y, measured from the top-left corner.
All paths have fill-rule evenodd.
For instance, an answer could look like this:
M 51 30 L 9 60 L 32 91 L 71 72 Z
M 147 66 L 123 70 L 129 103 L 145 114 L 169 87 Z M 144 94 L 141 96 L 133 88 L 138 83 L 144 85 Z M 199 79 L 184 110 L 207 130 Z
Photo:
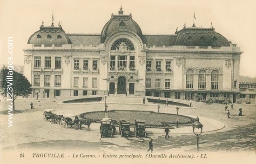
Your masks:
M 61 26 L 40 26 L 40 30 L 35 32 L 28 39 L 27 44 L 34 45 L 62 45 L 72 44 L 65 31 Z

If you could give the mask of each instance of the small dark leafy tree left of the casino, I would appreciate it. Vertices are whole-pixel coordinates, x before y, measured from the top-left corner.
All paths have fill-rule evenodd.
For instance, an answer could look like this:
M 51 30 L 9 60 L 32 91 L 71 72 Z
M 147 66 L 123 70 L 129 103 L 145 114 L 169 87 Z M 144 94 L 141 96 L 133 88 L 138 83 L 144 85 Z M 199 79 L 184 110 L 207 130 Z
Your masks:
M 10 80 L 11 76 L 12 81 Z M 6 67 L 1 69 L 0 92 L 3 97 L 9 97 L 11 99 L 10 101 L 13 102 L 13 111 L 15 111 L 15 99 L 18 96 L 28 98 L 32 91 L 32 85 L 24 75 L 14 70 L 9 70 Z

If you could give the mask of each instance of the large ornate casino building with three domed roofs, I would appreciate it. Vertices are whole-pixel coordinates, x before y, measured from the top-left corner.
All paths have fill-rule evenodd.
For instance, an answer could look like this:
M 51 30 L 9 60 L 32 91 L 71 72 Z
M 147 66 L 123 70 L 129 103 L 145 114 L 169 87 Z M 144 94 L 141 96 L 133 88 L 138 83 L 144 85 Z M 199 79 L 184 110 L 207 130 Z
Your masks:
M 27 41 L 24 75 L 32 97 L 127 94 L 237 102 L 240 47 L 215 28 L 144 34 L 122 7 L 101 34 L 40 26 Z

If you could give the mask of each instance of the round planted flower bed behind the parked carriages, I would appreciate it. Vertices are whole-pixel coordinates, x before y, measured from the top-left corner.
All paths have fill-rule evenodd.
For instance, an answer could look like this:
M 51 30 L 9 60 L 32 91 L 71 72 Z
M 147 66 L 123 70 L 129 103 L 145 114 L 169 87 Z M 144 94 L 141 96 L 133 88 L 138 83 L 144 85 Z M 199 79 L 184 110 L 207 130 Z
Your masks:
M 94 119 L 96 122 L 100 122 L 101 118 L 105 117 L 104 111 L 98 112 L 86 112 L 79 115 L 80 118 Z M 177 115 L 169 113 L 156 113 L 151 111 L 122 111 L 122 110 L 110 110 L 107 112 L 108 118 L 112 118 L 114 125 L 119 124 L 120 118 L 128 118 L 130 125 L 134 125 L 135 119 L 145 120 L 147 127 L 166 127 L 177 124 Z M 195 121 L 195 118 L 188 116 L 179 116 L 179 126 L 190 126 Z

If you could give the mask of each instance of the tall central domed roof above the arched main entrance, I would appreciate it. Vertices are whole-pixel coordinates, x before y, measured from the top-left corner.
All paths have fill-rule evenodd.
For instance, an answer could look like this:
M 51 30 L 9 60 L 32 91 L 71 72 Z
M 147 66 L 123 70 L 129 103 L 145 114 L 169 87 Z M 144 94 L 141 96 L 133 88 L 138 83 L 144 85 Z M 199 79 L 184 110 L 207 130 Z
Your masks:
M 110 33 L 119 30 L 127 30 L 136 33 L 142 39 L 140 26 L 132 19 L 132 14 L 123 15 L 122 7 L 118 15 L 112 13 L 110 20 L 105 24 L 101 31 L 101 43 L 104 43 Z

